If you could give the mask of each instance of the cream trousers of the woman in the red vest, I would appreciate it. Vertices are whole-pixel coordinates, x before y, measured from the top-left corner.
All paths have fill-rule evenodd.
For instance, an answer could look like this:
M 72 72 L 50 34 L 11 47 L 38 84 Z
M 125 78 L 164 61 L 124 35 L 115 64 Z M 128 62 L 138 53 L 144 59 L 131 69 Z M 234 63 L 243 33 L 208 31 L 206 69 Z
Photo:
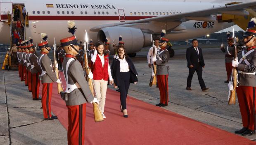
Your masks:
M 106 93 L 107 93 L 107 81 L 102 80 L 92 80 L 95 86 L 95 95 L 100 102 L 100 111 L 104 113 Z

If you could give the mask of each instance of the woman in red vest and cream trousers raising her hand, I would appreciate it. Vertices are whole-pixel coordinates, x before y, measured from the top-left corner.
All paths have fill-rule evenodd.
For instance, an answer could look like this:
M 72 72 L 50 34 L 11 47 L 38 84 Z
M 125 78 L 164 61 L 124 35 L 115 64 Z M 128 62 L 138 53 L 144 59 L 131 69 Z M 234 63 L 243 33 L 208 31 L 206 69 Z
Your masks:
M 104 57 L 104 45 L 102 41 L 97 41 L 94 47 L 94 51 L 91 54 L 91 61 L 93 65 L 93 83 L 95 85 L 95 93 L 98 101 L 100 102 L 100 111 L 102 112 L 102 117 L 106 118 L 104 115 L 104 106 L 106 101 L 107 93 L 107 83 L 109 79 L 109 84 L 112 85 L 113 78 L 111 76 L 111 69 L 109 67 L 108 58 Z

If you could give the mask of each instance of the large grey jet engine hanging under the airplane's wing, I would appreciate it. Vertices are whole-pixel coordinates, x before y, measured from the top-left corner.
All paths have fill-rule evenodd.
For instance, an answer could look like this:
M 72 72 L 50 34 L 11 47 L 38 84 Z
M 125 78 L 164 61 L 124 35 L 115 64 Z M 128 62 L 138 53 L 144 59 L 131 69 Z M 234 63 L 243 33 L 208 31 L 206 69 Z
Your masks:
M 122 41 L 125 42 L 126 53 L 130 56 L 136 55 L 143 47 L 151 46 L 151 36 L 148 33 L 142 32 L 137 28 L 129 27 L 106 27 L 99 30 L 97 39 L 104 42 L 107 38 L 110 43 L 110 52 L 114 54 L 113 40 L 116 45 L 119 42 L 119 36 L 122 36 Z

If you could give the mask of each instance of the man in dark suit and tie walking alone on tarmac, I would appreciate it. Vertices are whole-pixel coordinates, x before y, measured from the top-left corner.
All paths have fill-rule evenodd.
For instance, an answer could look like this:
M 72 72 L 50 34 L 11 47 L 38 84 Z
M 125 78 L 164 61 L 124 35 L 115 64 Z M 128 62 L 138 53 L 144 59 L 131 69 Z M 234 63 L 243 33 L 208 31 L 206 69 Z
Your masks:
M 189 75 L 187 77 L 187 90 L 191 90 L 191 81 L 194 72 L 196 71 L 202 91 L 207 91 L 209 88 L 206 88 L 202 78 L 202 67 L 205 67 L 202 49 L 198 47 L 197 39 L 192 40 L 192 45 L 193 46 L 190 48 L 187 48 L 186 52 L 187 67 L 189 68 Z

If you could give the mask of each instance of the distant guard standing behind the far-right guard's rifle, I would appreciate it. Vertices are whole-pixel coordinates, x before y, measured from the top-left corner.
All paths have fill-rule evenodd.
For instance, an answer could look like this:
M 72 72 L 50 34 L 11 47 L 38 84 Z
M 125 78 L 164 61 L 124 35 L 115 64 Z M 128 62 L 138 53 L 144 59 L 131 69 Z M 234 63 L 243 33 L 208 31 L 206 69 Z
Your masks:
M 235 46 L 233 43 L 233 38 L 230 37 L 230 32 L 227 32 L 227 36 L 228 36 L 228 45 L 226 48 L 224 48 L 224 45 L 221 44 L 221 51 L 225 54 L 225 66 L 226 66 L 226 71 L 227 71 L 227 81 L 225 81 L 224 83 L 228 83 L 228 80 L 230 78 L 230 75 L 232 73 L 232 60 L 234 59 L 234 53 L 235 53 Z

